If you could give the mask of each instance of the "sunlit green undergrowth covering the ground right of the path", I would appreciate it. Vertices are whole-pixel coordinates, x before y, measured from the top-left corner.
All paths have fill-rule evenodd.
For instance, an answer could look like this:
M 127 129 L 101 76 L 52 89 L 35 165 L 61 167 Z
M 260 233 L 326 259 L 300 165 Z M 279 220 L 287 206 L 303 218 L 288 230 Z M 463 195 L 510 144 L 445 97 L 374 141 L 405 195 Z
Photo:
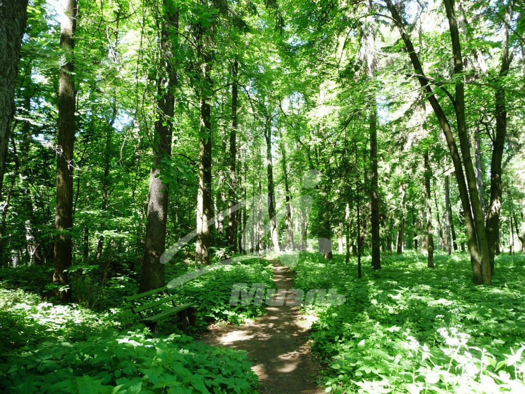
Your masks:
M 366 267 L 368 259 L 363 266 Z M 469 281 L 465 255 L 389 257 L 380 273 L 340 256 L 301 254 L 295 286 L 335 287 L 338 307 L 316 306 L 313 349 L 326 392 L 523 392 L 525 259 L 501 255 L 493 287 Z

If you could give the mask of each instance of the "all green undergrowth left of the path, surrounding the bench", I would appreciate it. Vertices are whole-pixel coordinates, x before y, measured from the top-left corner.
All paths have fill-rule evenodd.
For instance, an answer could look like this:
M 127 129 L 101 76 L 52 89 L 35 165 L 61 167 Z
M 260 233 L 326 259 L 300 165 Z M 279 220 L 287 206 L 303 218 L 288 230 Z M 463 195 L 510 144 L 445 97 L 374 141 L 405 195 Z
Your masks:
M 97 282 L 98 267 L 74 266 L 74 277 L 85 276 L 82 286 L 73 282 L 77 300 L 102 298 L 61 305 L 43 298 L 47 276 L 35 278 L 31 268 L 49 271 L 22 266 L 0 273 L 0 392 L 256 393 L 257 377 L 244 352 L 196 342 L 177 328 L 176 316 L 161 320 L 159 338 L 139 325 L 123 299 L 137 293 L 134 276 L 119 274 L 103 291 L 100 286 L 93 291 L 86 284 Z M 191 264 L 166 265 L 166 282 L 192 269 Z M 178 303 L 197 304 L 197 327 L 190 332 L 211 321 L 242 323 L 264 313 L 264 306 L 230 306 L 234 283 L 271 286 L 271 264 L 252 258 L 217 266 L 171 290 Z

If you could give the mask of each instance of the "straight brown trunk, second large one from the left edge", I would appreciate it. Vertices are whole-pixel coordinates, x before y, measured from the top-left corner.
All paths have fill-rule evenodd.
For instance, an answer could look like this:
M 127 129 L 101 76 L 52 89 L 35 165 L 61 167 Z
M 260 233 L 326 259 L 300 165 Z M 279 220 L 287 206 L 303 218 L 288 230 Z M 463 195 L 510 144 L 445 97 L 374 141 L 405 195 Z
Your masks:
M 53 283 L 67 286 L 56 288 L 54 295 L 63 301 L 71 298 L 67 269 L 72 263 L 73 227 L 73 147 L 75 143 L 75 80 L 73 54 L 77 27 L 77 0 L 66 0 L 60 24 L 60 48 L 66 63 L 60 67 L 58 99 L 57 196 L 55 206 L 55 247 Z

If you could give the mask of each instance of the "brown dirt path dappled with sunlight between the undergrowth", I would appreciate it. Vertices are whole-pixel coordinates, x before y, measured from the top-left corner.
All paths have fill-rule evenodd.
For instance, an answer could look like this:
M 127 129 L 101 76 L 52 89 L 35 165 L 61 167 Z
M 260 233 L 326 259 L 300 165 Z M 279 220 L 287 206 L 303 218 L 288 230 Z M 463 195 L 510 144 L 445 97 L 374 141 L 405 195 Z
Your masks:
M 274 261 L 274 282 L 293 288 L 288 269 Z M 288 296 L 289 292 L 285 293 Z M 271 306 L 266 315 L 243 326 L 212 325 L 203 341 L 213 346 L 246 350 L 259 376 L 261 394 L 322 394 L 314 382 L 319 366 L 308 344 L 311 323 L 298 306 Z

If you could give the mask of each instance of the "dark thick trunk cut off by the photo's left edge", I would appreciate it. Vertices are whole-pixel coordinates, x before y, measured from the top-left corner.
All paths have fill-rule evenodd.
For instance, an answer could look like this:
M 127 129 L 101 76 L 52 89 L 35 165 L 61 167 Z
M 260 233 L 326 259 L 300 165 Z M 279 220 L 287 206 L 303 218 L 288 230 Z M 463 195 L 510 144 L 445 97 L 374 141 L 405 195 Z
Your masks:
M 15 113 L 15 87 L 26 14 L 27 0 L 0 2 L 0 195 L 4 184 L 11 121 Z

